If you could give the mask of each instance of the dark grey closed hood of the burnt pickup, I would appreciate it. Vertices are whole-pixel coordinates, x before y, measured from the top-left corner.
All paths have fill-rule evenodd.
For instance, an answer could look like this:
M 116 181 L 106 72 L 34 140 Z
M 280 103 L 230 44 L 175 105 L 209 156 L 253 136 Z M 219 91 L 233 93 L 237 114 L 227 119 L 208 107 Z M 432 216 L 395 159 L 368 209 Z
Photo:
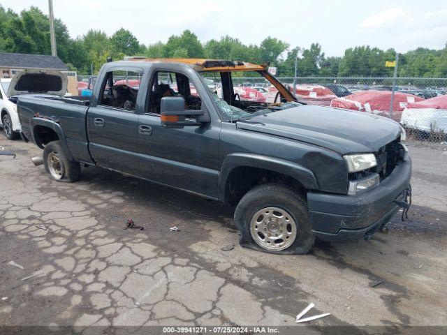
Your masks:
M 400 124 L 386 117 L 312 105 L 237 121 L 237 128 L 307 142 L 342 155 L 378 151 L 401 132 Z

